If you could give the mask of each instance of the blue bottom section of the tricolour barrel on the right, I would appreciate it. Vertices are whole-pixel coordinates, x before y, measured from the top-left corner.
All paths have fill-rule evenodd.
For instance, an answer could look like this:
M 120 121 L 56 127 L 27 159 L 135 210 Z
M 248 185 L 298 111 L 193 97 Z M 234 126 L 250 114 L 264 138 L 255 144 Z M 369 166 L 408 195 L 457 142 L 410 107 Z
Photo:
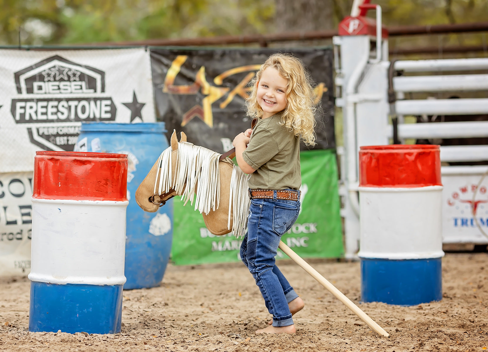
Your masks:
M 414 306 L 442 299 L 442 258 L 361 258 L 361 301 Z

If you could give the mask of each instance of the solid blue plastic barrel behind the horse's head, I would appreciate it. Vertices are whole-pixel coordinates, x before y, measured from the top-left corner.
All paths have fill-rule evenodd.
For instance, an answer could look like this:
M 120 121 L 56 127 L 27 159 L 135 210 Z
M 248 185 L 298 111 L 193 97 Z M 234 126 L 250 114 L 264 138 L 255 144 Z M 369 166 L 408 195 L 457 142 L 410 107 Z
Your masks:
M 173 203 L 155 213 L 134 198 L 137 187 L 169 145 L 164 123 L 82 123 L 77 150 L 127 154 L 127 229 L 124 290 L 158 286 L 163 280 L 173 238 Z

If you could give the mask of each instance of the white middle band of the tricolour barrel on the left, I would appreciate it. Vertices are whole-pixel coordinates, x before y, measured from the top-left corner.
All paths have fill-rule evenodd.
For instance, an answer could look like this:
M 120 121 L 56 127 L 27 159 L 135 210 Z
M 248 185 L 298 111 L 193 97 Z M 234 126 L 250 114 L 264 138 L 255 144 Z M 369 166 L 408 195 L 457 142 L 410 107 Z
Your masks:
M 31 281 L 122 285 L 127 201 L 32 199 Z

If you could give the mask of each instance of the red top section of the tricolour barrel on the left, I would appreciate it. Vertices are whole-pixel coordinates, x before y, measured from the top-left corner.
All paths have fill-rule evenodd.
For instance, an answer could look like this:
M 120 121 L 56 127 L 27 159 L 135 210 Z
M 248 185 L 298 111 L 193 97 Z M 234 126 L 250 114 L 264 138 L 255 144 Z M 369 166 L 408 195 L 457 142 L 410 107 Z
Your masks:
M 38 151 L 33 198 L 127 200 L 127 155 Z

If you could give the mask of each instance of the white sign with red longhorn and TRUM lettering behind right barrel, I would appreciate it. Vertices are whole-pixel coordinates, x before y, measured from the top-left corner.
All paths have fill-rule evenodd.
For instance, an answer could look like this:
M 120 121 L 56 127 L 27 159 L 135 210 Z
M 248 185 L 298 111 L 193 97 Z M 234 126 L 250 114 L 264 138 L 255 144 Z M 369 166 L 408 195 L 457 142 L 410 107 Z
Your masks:
M 443 175 L 443 243 L 488 244 L 488 178 Z

